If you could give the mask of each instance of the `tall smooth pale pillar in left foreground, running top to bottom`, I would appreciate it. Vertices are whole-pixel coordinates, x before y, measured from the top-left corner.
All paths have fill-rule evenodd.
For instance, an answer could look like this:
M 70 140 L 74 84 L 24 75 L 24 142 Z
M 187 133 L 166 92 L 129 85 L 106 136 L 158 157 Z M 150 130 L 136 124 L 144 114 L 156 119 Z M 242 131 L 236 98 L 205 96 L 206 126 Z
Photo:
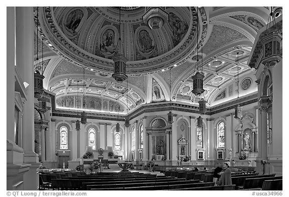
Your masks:
M 40 166 L 38 155 L 34 152 L 34 20 L 33 7 L 16 7 L 16 50 L 17 68 L 26 88 L 27 101 L 24 104 L 23 116 L 23 149 L 24 162 L 31 164 L 24 174 L 24 190 L 37 190 Z M 14 84 L 14 83 L 13 83 Z M 14 98 L 14 97 L 12 97 Z M 14 119 L 14 118 L 13 118 Z

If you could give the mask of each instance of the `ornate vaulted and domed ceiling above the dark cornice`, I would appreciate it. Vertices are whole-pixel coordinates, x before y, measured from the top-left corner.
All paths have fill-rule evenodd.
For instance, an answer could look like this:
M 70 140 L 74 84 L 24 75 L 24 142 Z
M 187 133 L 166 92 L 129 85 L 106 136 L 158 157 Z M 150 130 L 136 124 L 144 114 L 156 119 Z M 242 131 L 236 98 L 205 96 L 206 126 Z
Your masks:
M 257 91 L 255 71 L 247 66 L 247 61 L 257 31 L 266 24 L 267 7 L 200 7 L 198 39 L 196 7 L 166 9 L 169 21 L 161 29 L 151 30 L 141 19 L 145 8 L 121 7 L 121 38 L 128 59 L 126 88 L 126 82 L 117 84 L 111 77 L 111 52 L 119 37 L 117 8 L 40 7 L 38 43 L 41 48 L 40 40 L 44 38 L 44 88 L 56 94 L 59 107 L 65 99 L 70 99 L 68 103 L 71 103 L 77 96 L 77 80 L 78 93 L 83 97 L 85 68 L 85 100 L 86 103 L 94 100 L 89 105 L 99 111 L 105 111 L 110 105 L 111 109 L 106 110 L 113 112 L 113 105 L 118 101 L 121 111 L 126 113 L 126 93 L 128 110 L 153 102 L 156 94 L 152 83 L 156 81 L 164 98 L 171 94 L 173 101 L 197 105 L 199 98 L 191 93 L 191 77 L 195 73 L 198 40 L 199 60 L 203 61 L 205 74 L 202 97 L 208 101 L 208 106 L 237 97 L 237 52 L 239 92 L 247 95 Z M 71 17 L 77 16 L 81 19 L 74 24 Z M 176 23 L 183 29 L 176 29 Z M 36 54 L 35 50 L 35 58 Z M 155 98 L 155 102 L 164 100 L 168 100 L 167 97 Z

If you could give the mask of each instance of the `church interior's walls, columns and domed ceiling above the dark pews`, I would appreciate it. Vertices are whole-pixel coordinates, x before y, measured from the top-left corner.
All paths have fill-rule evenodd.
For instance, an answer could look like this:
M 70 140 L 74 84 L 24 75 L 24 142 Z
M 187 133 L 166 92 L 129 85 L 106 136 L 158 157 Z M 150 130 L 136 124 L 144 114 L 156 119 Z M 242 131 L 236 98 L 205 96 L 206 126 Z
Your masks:
M 7 190 L 99 159 L 281 176 L 282 7 L 7 7 Z

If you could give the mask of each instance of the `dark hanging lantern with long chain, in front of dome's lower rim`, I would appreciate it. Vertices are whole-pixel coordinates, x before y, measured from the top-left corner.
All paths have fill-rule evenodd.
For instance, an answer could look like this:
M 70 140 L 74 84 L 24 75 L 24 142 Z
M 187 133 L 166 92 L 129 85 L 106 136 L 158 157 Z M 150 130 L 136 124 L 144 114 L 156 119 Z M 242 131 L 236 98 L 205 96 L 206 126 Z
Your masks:
M 122 42 L 121 42 L 120 7 L 119 7 L 119 38 L 117 42 L 115 55 L 112 57 L 112 60 L 114 62 L 114 73 L 111 75 L 118 83 L 122 83 L 124 80 L 127 79 L 127 75 L 125 74 L 127 59 L 125 58 L 124 53 L 122 51 L 121 43 Z

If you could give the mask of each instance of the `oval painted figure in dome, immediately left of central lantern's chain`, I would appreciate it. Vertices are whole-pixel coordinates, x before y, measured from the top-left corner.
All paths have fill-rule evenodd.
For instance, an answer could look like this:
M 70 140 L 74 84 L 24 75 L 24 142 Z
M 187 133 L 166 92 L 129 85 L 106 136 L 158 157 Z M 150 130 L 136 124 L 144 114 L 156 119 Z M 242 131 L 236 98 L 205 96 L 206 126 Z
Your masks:
M 106 30 L 102 36 L 102 43 L 100 43 L 99 50 L 102 53 L 111 55 L 115 52 L 116 46 L 114 45 L 114 32 Z

